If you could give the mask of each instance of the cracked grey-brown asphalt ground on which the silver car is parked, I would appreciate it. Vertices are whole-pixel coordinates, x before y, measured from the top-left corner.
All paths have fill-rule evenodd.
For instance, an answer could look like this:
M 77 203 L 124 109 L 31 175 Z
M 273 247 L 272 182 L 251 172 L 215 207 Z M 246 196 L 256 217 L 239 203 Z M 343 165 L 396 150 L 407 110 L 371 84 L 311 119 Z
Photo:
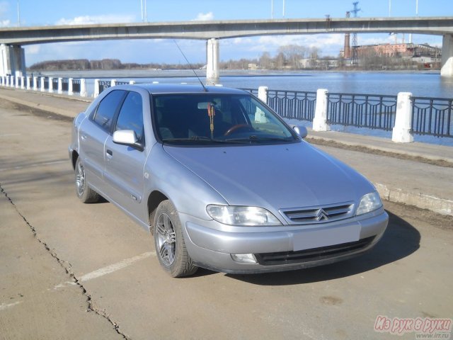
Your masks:
M 0 103 L 0 339 L 415 339 L 374 331 L 377 316 L 453 317 L 451 217 L 391 203 L 359 258 L 171 278 L 151 235 L 110 203 L 77 200 L 70 124 Z

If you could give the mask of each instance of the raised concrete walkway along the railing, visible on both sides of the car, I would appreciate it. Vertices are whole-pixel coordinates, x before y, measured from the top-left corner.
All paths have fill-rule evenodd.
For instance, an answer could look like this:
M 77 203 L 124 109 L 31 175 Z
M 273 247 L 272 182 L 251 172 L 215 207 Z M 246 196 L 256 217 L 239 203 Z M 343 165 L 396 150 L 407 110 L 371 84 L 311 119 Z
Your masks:
M 67 118 L 92 100 L 8 88 L 0 99 Z M 453 215 L 453 147 L 333 131 L 309 131 L 309 141 L 367 176 L 384 199 Z

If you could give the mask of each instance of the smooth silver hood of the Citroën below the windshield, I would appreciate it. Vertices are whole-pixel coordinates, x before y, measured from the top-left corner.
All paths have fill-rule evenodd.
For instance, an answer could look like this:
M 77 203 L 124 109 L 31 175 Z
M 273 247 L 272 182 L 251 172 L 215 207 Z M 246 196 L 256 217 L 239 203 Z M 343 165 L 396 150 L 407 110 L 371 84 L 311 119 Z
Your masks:
M 374 191 L 362 175 L 307 142 L 164 149 L 230 205 L 273 212 L 354 201 Z

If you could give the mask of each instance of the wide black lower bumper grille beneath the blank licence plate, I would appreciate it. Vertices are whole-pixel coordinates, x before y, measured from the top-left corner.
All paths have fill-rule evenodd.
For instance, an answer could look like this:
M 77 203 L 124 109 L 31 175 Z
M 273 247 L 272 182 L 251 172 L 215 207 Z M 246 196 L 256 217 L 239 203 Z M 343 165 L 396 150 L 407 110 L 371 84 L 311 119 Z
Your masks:
M 360 239 L 355 242 L 335 244 L 333 246 L 321 246 L 319 248 L 300 251 L 280 251 L 277 253 L 255 254 L 255 256 L 258 263 L 263 266 L 319 261 L 364 249 L 371 244 L 373 239 L 374 236 Z

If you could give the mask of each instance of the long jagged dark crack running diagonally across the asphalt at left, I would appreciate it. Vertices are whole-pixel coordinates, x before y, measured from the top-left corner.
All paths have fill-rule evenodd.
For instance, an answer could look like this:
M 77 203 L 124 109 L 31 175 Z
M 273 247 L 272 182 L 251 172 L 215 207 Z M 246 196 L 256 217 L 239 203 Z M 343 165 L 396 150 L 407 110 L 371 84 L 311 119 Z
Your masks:
M 91 300 L 91 295 L 88 294 L 84 285 L 81 284 L 79 279 L 76 278 L 76 276 L 74 275 L 73 271 L 71 271 L 71 263 L 60 259 L 57 256 L 57 254 L 55 253 L 55 251 L 52 251 L 52 249 L 50 249 L 50 247 L 47 245 L 47 243 L 45 243 L 44 241 L 42 241 L 42 239 L 40 239 L 38 237 L 35 227 L 33 227 L 33 225 L 31 225 L 30 222 L 28 222 L 27 218 L 18 210 L 17 205 L 8 196 L 8 193 L 6 193 L 4 188 L 1 186 L 1 183 L 0 183 L 0 192 L 4 194 L 4 196 L 6 197 L 8 202 L 11 203 L 11 205 L 13 205 L 13 207 L 16 210 L 16 212 L 18 213 L 18 215 L 21 216 L 22 219 L 25 221 L 25 224 L 28 225 L 30 230 L 33 232 L 33 236 L 35 237 L 35 239 L 37 239 L 38 242 L 40 242 L 40 244 L 42 244 L 42 246 L 44 246 L 45 250 L 47 250 L 47 252 L 50 254 L 50 256 L 52 256 L 54 259 L 57 260 L 57 262 L 64 269 L 64 271 L 67 273 L 67 275 L 69 275 L 69 277 L 72 280 L 74 280 L 74 283 L 81 289 L 83 295 L 86 297 L 86 302 L 88 304 L 88 308 L 87 308 L 86 312 L 94 312 L 95 314 L 98 314 L 99 316 L 103 317 L 108 322 L 110 322 L 110 324 L 112 324 L 112 326 L 115 329 L 115 331 L 117 332 L 117 334 L 122 336 L 123 339 L 129 340 L 130 338 L 120 331 L 120 326 L 115 321 L 113 321 L 113 319 L 110 317 L 110 314 L 107 314 L 107 312 L 105 312 L 105 310 L 98 310 L 98 308 L 96 308 L 94 306 L 93 300 Z

